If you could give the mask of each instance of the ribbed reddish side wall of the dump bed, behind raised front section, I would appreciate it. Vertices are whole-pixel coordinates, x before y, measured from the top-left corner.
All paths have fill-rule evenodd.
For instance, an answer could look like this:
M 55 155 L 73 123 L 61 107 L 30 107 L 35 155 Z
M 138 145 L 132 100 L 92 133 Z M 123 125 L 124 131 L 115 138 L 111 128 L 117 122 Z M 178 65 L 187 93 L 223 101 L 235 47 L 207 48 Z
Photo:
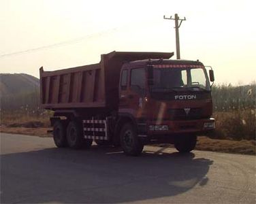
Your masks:
M 59 71 L 40 69 L 42 107 L 103 107 L 105 95 L 100 64 Z

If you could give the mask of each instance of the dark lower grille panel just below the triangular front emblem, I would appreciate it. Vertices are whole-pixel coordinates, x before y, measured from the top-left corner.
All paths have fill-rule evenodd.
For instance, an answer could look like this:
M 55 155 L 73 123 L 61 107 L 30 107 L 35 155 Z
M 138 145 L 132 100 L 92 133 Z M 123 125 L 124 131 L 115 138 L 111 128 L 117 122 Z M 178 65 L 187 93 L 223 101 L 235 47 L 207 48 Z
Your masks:
M 168 115 L 171 120 L 197 120 L 202 118 L 201 108 L 191 108 L 186 114 L 185 109 L 168 109 Z

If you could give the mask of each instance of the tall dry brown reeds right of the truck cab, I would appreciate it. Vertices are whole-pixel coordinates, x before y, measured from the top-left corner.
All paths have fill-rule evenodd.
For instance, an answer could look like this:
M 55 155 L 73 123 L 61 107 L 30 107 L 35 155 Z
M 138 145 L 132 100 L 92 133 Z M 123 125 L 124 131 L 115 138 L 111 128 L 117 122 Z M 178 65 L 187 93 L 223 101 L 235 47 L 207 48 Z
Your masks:
M 256 83 L 247 86 L 221 85 L 212 88 L 217 139 L 255 140 Z

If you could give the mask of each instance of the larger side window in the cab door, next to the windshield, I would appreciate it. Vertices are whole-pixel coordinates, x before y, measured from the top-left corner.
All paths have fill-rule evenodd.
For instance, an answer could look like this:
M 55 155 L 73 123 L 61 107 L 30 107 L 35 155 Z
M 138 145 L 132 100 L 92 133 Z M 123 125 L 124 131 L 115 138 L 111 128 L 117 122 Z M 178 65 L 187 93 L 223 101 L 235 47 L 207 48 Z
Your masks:
M 131 69 L 131 89 L 135 92 L 143 93 L 145 90 L 145 69 Z

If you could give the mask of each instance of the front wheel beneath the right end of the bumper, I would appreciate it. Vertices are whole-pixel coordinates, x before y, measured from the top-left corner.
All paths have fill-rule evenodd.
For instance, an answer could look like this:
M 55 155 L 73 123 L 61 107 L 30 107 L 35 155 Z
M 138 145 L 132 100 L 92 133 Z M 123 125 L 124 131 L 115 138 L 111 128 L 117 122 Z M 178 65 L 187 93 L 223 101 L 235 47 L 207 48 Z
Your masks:
M 195 149 L 195 145 L 197 143 L 196 135 L 180 135 L 180 137 L 176 137 L 174 141 L 174 146 L 178 152 L 191 152 Z

